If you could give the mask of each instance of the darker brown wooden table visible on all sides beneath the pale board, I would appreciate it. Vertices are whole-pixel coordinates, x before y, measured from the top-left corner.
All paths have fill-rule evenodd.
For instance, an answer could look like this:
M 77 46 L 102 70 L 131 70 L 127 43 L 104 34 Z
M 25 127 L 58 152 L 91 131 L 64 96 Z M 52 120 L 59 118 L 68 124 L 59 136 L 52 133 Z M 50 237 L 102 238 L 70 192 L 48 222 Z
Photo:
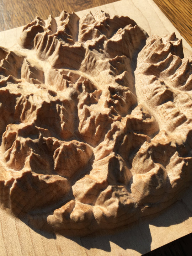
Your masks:
M 114 2 L 115 0 L 0 0 L 0 31 L 26 25 L 35 16 L 46 19 L 49 14 L 57 17 L 62 10 L 81 11 L 91 7 Z M 142 0 L 141 0 L 142 1 Z M 154 0 L 181 35 L 192 46 L 192 0 Z M 192 234 L 177 239 L 146 254 L 191 255 Z

